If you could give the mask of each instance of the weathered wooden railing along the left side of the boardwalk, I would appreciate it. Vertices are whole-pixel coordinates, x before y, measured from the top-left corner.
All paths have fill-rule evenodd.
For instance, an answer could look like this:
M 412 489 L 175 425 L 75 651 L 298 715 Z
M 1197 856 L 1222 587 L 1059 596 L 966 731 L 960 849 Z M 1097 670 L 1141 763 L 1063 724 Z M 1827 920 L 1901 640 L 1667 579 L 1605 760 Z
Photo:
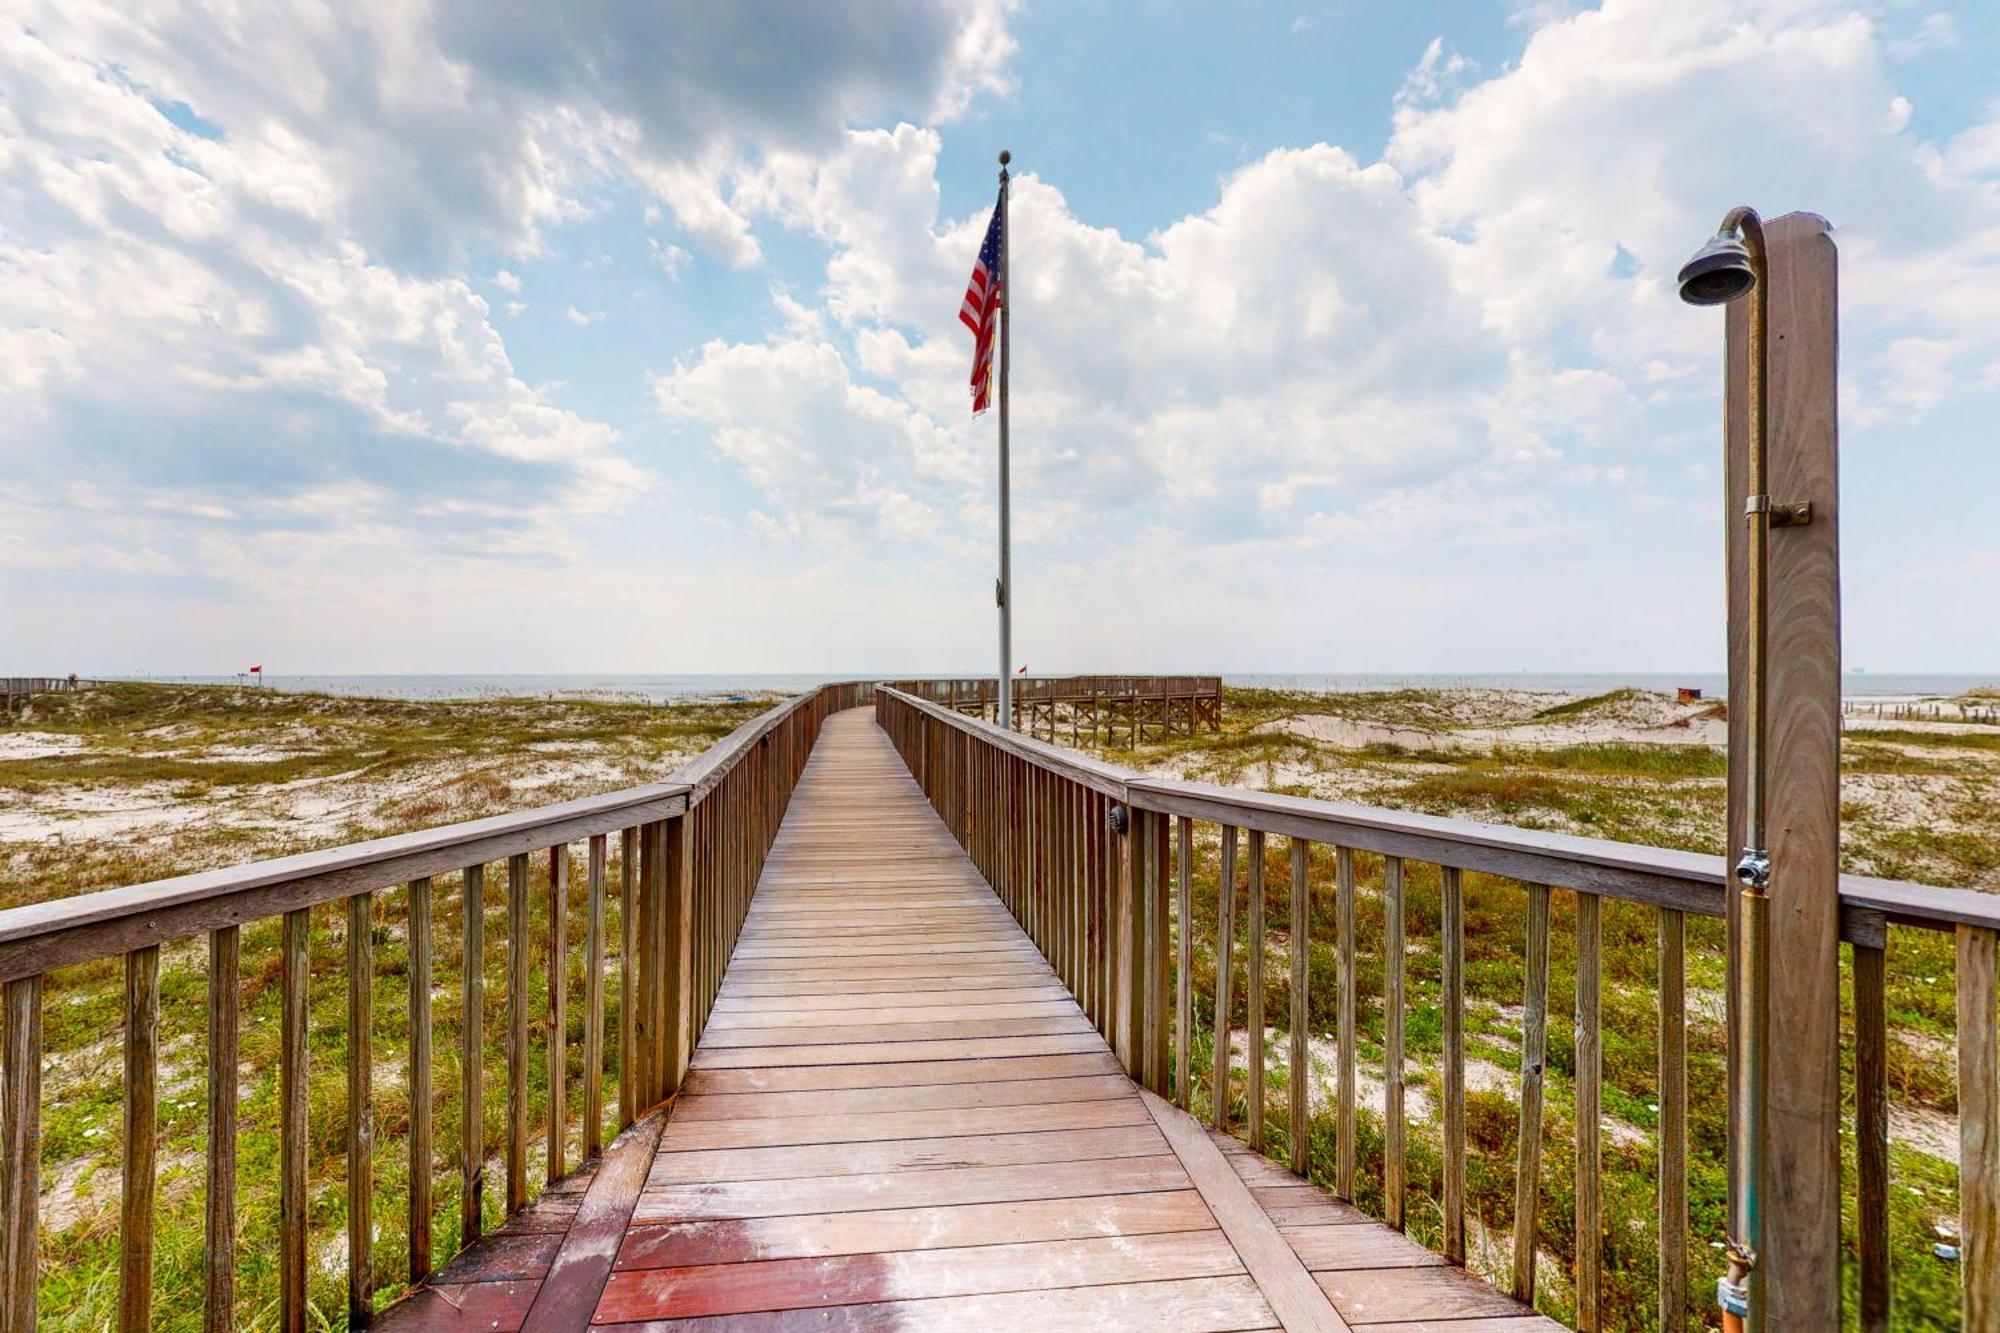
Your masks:
M 146 1329 L 154 1305 L 154 1183 L 158 1173 L 160 951 L 178 941 L 208 943 L 208 1137 L 206 1137 L 206 1309 L 204 1327 L 238 1319 L 238 1077 L 240 965 L 244 927 L 282 919 L 282 1041 L 278 1091 L 278 1321 L 304 1329 L 308 1315 L 308 987 L 312 911 L 340 903 L 346 917 L 346 1251 L 348 1321 L 368 1323 L 378 1273 L 374 1237 L 374 919 L 382 891 L 402 887 L 408 931 L 408 1277 L 436 1265 L 440 1157 L 432 1089 L 432 899 L 462 895 L 464 959 L 458 1087 L 458 1143 L 448 1145 L 458 1175 L 456 1237 L 446 1251 L 476 1241 L 484 1205 L 484 939 L 486 871 L 506 863 L 506 1133 L 504 1211 L 530 1203 L 530 969 L 548 971 L 544 1059 L 548 1085 L 546 1181 L 566 1169 L 570 1141 L 566 979 L 572 965 L 568 899 L 572 849 L 584 843 L 584 1023 L 582 1155 L 594 1157 L 604 1131 L 604 1077 L 616 1053 L 618 1125 L 630 1125 L 670 1097 L 756 889 L 758 871 L 792 787 L 828 713 L 866 703 L 868 685 L 828 685 L 788 699 L 736 729 L 670 781 L 568 801 L 516 815 L 424 829 L 330 851 L 206 871 L 180 879 L 108 889 L 0 913 L 4 1055 L 0 1055 L 0 1333 L 36 1327 L 38 1195 L 42 1115 L 42 989 L 58 967 L 124 959 L 124 1165 L 120 1211 L 122 1329 Z M 618 1033 L 604 1031 L 606 897 L 612 889 L 622 941 Z M 548 955 L 532 959 L 530 859 L 548 861 Z M 498 941 L 496 941 L 498 943 Z M 540 1025 L 540 1023 L 536 1023 Z

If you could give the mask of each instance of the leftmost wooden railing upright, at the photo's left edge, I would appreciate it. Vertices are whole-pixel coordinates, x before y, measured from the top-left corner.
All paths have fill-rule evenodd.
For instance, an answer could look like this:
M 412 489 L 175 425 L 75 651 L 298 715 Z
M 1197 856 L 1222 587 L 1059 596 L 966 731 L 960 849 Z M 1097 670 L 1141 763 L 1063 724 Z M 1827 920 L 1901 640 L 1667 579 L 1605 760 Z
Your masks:
M 40 1281 L 42 979 L 6 983 L 0 1047 L 0 1329 L 32 1333 Z

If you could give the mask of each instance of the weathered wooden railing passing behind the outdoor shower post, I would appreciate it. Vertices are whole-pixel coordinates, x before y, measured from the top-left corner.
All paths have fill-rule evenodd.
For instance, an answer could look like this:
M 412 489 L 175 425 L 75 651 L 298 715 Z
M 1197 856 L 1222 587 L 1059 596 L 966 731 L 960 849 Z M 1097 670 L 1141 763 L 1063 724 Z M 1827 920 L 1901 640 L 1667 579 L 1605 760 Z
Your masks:
M 1356 1179 L 1356 1009 L 1358 969 L 1382 975 L 1384 1117 L 1380 1147 L 1382 1217 L 1404 1227 L 1408 1009 L 1406 955 L 1416 943 L 1406 885 L 1420 867 L 1438 885 L 1438 983 L 1442 1009 L 1442 1171 L 1430 1207 L 1440 1215 L 1438 1249 L 1466 1261 L 1466 877 L 1498 877 L 1520 887 L 1526 975 L 1520 1017 L 1518 1157 L 1514 1163 L 1512 1291 L 1536 1295 L 1544 1237 L 1542 1113 L 1548 1063 L 1548 983 L 1552 897 L 1574 897 L 1574 1245 L 1576 1327 L 1602 1323 L 1602 903 L 1654 913 L 1658 955 L 1658 1325 L 1686 1327 L 1688 1307 L 1688 919 L 1724 915 L 1720 857 L 1578 839 L 1556 833 L 1406 815 L 1358 805 L 1306 801 L 1230 787 L 1154 779 L 1096 763 L 1052 745 L 1004 733 L 908 693 L 876 695 L 882 727 L 994 891 L 1056 967 L 1084 1011 L 1110 1039 L 1134 1079 L 1194 1101 L 1196 1077 L 1212 1095 L 1210 1123 L 1232 1119 L 1232 989 L 1246 987 L 1248 1061 L 1242 1131 L 1270 1147 L 1264 1033 L 1266 955 L 1282 937 L 1290 1051 L 1286 1115 L 1278 1121 L 1292 1171 L 1308 1167 L 1304 1127 L 1310 1061 L 1312 895 L 1310 865 L 1322 849 L 1334 861 L 1336 1083 L 1332 1189 L 1358 1197 Z M 1198 873 L 1196 831 L 1218 827 L 1218 873 Z M 1266 921 L 1266 853 L 1286 839 L 1290 919 Z M 1358 957 L 1356 853 L 1380 863 L 1382 949 Z M 1198 883 L 1204 881 L 1204 883 Z M 1238 905 L 1238 885 L 1246 903 Z M 1272 885 L 1274 887 L 1274 885 Z M 1196 895 L 1202 895 L 1198 899 Z M 1196 1031 L 1192 921 L 1214 913 L 1214 1031 Z M 1958 937 L 1958 1141 L 1960 1283 L 1966 1329 L 2000 1327 L 2000 1025 L 1996 1025 L 1996 941 L 2000 897 L 1866 877 L 1840 881 L 1842 939 L 1854 977 L 1854 1171 L 1858 1181 L 1858 1317 L 1864 1329 L 1890 1327 L 1888 1239 L 1888 1037 L 1884 963 L 1892 927 L 1954 931 Z M 1246 939 L 1232 939 L 1236 925 Z M 1210 1067 L 1196 1051 L 1212 1051 Z M 1774 1099 L 1782 1089 L 1772 1089 Z M 1830 1151 L 1838 1153 L 1838 1139 Z M 1372 1183 L 1370 1183 L 1372 1185 Z M 1710 1237 L 1704 1237 L 1710 1239 Z M 1840 1255 L 1824 1255 L 1838 1273 Z

